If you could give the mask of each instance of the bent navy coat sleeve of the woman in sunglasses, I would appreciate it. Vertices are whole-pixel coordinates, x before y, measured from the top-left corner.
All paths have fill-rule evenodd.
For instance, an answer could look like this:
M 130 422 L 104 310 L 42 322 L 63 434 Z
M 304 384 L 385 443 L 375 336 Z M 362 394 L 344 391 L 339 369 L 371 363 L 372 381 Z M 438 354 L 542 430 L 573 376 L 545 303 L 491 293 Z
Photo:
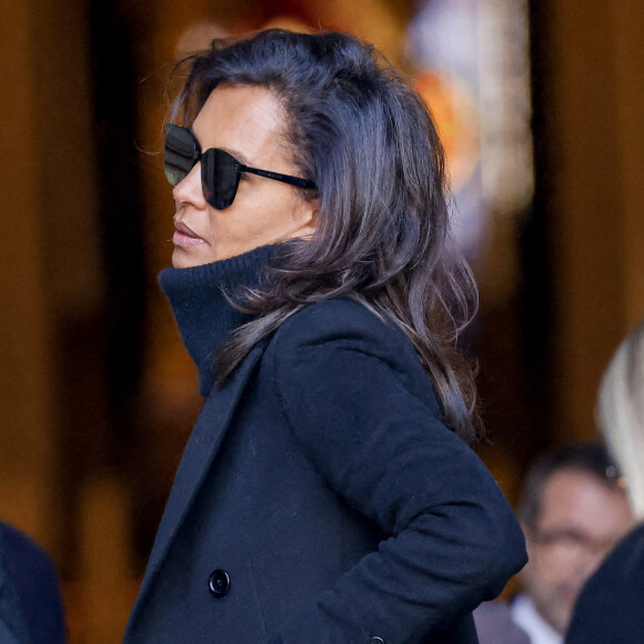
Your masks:
M 424 641 L 503 590 L 526 561 L 523 534 L 483 463 L 414 391 L 406 340 L 359 304 L 328 304 L 275 336 L 278 386 L 312 466 L 389 539 L 274 642 Z

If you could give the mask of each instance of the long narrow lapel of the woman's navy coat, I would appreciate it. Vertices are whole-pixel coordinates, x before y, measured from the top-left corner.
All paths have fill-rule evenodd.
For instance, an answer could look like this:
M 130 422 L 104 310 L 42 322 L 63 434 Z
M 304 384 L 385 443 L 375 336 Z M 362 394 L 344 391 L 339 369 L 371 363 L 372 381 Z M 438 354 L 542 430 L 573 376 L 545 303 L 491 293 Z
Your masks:
M 214 461 L 241 394 L 263 351 L 263 344 L 255 346 L 239 369 L 233 372 L 227 384 L 221 390 L 213 388 L 203 403 L 199 419 L 183 451 L 163 517 L 157 532 L 157 539 L 145 568 L 141 590 L 132 608 L 130 623 L 168 553 L 168 549 L 181 527 L 211 463 Z

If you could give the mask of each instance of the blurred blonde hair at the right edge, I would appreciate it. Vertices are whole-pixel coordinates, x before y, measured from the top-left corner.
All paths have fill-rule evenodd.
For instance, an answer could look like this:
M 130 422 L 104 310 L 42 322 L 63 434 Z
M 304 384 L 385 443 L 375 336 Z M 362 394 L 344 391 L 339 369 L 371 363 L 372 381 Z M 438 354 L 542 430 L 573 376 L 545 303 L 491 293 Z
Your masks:
M 644 519 L 644 321 L 615 351 L 600 388 L 597 421 L 626 479 L 631 509 Z

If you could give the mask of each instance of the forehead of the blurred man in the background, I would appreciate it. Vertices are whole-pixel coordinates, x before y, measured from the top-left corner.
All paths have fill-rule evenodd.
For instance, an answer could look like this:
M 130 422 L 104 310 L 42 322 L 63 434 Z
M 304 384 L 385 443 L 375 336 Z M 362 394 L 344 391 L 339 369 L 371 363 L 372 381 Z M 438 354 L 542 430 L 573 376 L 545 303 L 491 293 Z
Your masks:
M 537 523 L 541 530 L 576 529 L 603 535 L 631 523 L 624 491 L 574 470 L 555 472 L 545 482 Z

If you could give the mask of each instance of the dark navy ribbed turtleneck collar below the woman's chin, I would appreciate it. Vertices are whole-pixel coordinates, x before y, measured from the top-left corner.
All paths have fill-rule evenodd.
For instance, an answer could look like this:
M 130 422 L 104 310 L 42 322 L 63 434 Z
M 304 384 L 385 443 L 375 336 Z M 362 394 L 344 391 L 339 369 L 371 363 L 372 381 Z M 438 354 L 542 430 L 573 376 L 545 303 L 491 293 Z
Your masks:
M 183 344 L 199 370 L 199 393 L 214 385 L 215 351 L 252 316 L 238 311 L 224 293 L 262 282 L 274 246 L 261 246 L 242 255 L 188 269 L 164 269 L 159 283 L 170 301 Z

